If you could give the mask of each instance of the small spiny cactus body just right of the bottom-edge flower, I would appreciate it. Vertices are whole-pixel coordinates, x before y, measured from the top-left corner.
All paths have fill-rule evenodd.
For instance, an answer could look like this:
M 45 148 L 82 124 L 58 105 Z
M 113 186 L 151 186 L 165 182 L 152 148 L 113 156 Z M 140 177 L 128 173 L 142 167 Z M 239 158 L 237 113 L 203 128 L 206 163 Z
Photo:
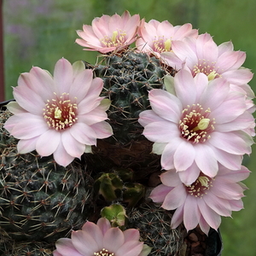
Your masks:
M 153 203 L 133 208 L 128 214 L 129 228 L 140 231 L 141 239 L 152 247 L 148 256 L 174 256 L 183 246 L 186 230 L 182 225 L 172 230 L 172 212 L 154 206 Z

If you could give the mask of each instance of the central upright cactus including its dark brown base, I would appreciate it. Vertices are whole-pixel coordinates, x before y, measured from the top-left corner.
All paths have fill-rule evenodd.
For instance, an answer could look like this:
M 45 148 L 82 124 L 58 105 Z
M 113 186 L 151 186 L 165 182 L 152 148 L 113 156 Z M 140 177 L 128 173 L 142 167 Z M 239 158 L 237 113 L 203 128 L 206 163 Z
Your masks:
M 152 143 L 143 137 L 143 127 L 137 119 L 139 113 L 150 109 L 148 90 L 165 89 L 163 80 L 172 73 L 170 67 L 135 49 L 112 52 L 95 66 L 84 63 L 86 68 L 93 69 L 96 77 L 103 79 L 101 96 L 111 101 L 107 113 L 113 136 L 99 140 L 97 147 L 92 148 L 102 160 L 108 159 L 102 166 L 111 163 L 131 167 L 135 172 L 140 169 L 141 174 L 160 168 L 159 156 L 150 154 Z

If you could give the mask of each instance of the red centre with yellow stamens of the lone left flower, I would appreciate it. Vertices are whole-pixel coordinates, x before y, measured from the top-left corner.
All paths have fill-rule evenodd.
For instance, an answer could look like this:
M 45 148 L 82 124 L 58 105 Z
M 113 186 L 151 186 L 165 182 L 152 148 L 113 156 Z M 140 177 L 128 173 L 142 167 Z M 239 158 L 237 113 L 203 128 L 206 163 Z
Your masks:
M 55 94 L 56 95 L 56 94 Z M 64 92 L 57 99 L 47 100 L 44 110 L 44 119 L 50 128 L 56 131 L 64 130 L 72 126 L 76 121 L 77 104 L 71 102 L 68 93 Z

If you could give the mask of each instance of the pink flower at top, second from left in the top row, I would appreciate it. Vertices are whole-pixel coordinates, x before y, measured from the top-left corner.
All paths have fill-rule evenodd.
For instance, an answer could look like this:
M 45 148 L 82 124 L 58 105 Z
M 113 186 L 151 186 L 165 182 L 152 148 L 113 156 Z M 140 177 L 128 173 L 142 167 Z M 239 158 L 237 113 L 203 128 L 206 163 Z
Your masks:
M 198 31 L 192 29 L 192 25 L 189 23 L 183 26 L 172 26 L 167 20 L 162 22 L 149 20 L 147 23 L 143 19 L 138 29 L 138 35 L 140 38 L 136 41 L 137 49 L 160 57 L 162 52 L 172 50 L 174 41 L 182 40 L 185 37 L 197 38 Z

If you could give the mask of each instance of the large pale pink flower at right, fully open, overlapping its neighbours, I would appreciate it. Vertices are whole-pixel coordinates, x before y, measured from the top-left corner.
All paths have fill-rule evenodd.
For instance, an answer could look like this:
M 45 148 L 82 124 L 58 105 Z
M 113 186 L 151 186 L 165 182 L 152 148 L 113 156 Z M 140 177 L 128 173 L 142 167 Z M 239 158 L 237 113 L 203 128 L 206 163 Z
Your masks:
M 215 177 L 218 162 L 231 170 L 241 167 L 243 154 L 251 153 L 254 124 L 243 94 L 230 90 L 225 79 L 208 81 L 179 71 L 166 90 L 148 92 L 152 110 L 140 113 L 143 135 L 154 142 L 163 169 L 176 169 L 183 183 L 192 183 L 200 172 Z M 167 78 L 166 78 L 167 79 Z M 171 93 L 172 92 L 172 93 Z

